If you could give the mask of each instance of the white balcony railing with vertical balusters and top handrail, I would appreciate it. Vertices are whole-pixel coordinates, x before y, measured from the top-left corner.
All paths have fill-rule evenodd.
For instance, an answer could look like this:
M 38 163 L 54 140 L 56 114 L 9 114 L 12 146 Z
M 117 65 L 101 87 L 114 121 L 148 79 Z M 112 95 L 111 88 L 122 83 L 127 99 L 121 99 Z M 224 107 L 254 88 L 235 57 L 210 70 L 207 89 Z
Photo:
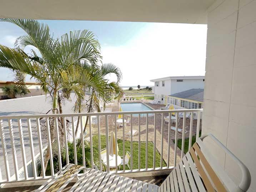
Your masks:
M 81 118 L 82 116 L 96 116 L 97 117 L 97 129 L 98 129 L 98 132 L 97 132 L 97 136 L 98 136 L 98 140 L 99 140 L 99 151 L 98 151 L 98 154 L 99 154 L 99 158 L 97 160 L 99 160 L 99 163 L 100 163 L 100 170 L 102 170 L 102 158 L 101 158 L 101 135 L 105 135 L 105 140 L 106 140 L 106 158 L 107 158 L 107 165 L 106 165 L 106 171 L 109 173 L 111 172 L 110 168 L 110 165 L 109 165 L 109 127 L 111 125 L 109 125 L 109 118 L 113 121 L 113 125 L 112 127 L 114 127 L 114 131 L 115 131 L 115 143 L 117 145 L 117 126 L 119 126 L 119 128 L 121 128 L 121 132 L 122 133 L 122 145 L 123 145 L 123 148 L 122 148 L 122 152 L 123 152 L 123 156 L 125 156 L 125 127 L 126 127 L 126 123 L 125 123 L 125 118 L 122 118 L 122 123 L 121 125 L 117 125 L 117 115 L 130 115 L 130 118 L 131 118 L 131 121 L 130 121 L 130 141 L 131 141 L 131 168 L 130 170 L 126 170 L 125 168 L 125 162 L 123 161 L 123 169 L 118 171 L 117 170 L 117 158 L 116 158 L 116 170 L 115 172 L 116 173 L 125 173 L 125 172 L 141 172 L 141 171 L 152 171 L 152 170 L 162 170 L 162 169 L 170 169 L 170 168 L 173 168 L 172 165 L 170 165 L 170 143 L 172 142 L 171 140 L 171 130 L 173 130 L 175 127 L 178 128 L 179 124 L 179 120 L 180 120 L 180 114 L 179 113 L 183 113 L 183 117 L 186 117 L 186 113 L 190 113 L 190 130 L 189 130 L 189 145 L 191 146 L 191 141 L 192 141 L 192 129 L 193 129 L 193 120 L 194 120 L 194 114 L 197 114 L 197 125 L 196 125 L 196 138 L 198 138 L 199 136 L 199 130 L 200 130 L 200 114 L 201 112 L 203 111 L 203 109 L 176 109 L 176 110 L 147 110 L 147 111 L 117 111 L 117 112 L 91 112 L 91 113 L 59 113 L 59 114 L 33 114 L 33 115 L 7 115 L 7 116 L 0 116 L 0 138 L 1 138 L 1 148 L 2 148 L 2 151 L 3 151 L 3 157 L 4 157 L 4 163 L 5 163 L 5 173 L 6 173 L 6 180 L 3 179 L 1 177 L 1 174 L 0 174 L 0 183 L 2 182 L 10 182 L 13 180 L 12 178 L 12 175 L 10 175 L 10 168 L 9 168 L 9 161 L 8 161 L 8 156 L 10 154 L 8 153 L 12 153 L 12 160 L 13 160 L 13 164 L 14 164 L 14 168 L 15 168 L 15 173 L 11 173 L 11 174 L 14 174 L 15 176 L 15 180 L 16 181 L 19 181 L 20 179 L 22 180 L 22 178 L 19 178 L 19 171 L 18 171 L 18 165 L 17 165 L 17 153 L 16 153 L 16 147 L 15 147 L 15 139 L 18 137 L 16 135 L 14 135 L 14 131 L 16 129 L 16 131 L 18 131 L 20 134 L 19 134 L 19 138 L 20 138 L 20 146 L 21 146 L 21 151 L 22 151 L 22 162 L 23 162 L 23 166 L 27 165 L 27 158 L 26 158 L 26 150 L 25 150 L 25 145 L 24 145 L 24 135 L 23 135 L 23 129 L 26 128 L 26 124 L 27 124 L 27 128 L 29 130 L 29 134 L 26 136 L 29 138 L 29 143 L 30 145 L 29 146 L 32 146 L 30 147 L 30 153 L 32 154 L 31 155 L 31 163 L 32 163 L 32 171 L 33 171 L 33 178 L 34 180 L 38 180 L 38 179 L 41 179 L 41 178 L 46 178 L 45 174 L 42 175 L 42 177 L 37 177 L 36 176 L 36 159 L 35 159 L 35 155 L 34 155 L 34 140 L 33 140 L 33 137 L 34 135 L 32 134 L 32 130 L 31 130 L 31 122 L 33 122 L 33 128 L 35 128 L 37 130 L 37 136 L 38 136 L 38 145 L 39 145 L 39 153 L 40 153 L 40 161 L 41 161 L 41 165 L 42 167 L 44 167 L 44 161 L 43 161 L 43 158 L 44 158 L 44 150 L 42 149 L 42 138 L 41 138 L 41 125 L 40 125 L 40 120 L 44 118 L 45 122 L 43 123 L 46 127 L 46 138 L 47 138 L 47 146 L 48 146 L 48 150 L 49 150 L 49 154 L 50 154 L 50 157 L 49 157 L 49 161 L 50 161 L 50 169 L 51 169 L 51 175 L 53 176 L 55 174 L 54 172 L 54 162 L 53 162 L 53 156 L 52 156 L 52 142 L 51 142 L 51 130 L 50 130 L 50 119 L 51 118 L 54 118 L 54 129 L 55 129 L 55 135 L 53 136 L 56 141 L 57 141 L 57 156 L 58 156 L 58 162 L 59 162 L 59 169 L 61 169 L 61 165 L 62 165 L 62 161 L 64 161 L 64 159 L 62 160 L 61 158 L 61 149 L 60 149 L 60 136 L 59 136 L 59 131 L 58 131 L 58 128 L 59 127 L 59 121 L 57 121 L 57 118 L 58 117 L 62 117 L 62 122 L 63 122 L 63 129 L 64 129 L 64 143 L 65 143 L 65 152 L 66 152 L 66 163 L 68 164 L 69 163 L 69 149 L 68 149 L 68 146 L 67 146 L 67 141 L 68 141 L 68 138 L 67 138 L 67 127 L 66 127 L 66 118 L 67 117 L 71 117 L 71 121 L 69 120 L 69 122 L 71 123 L 71 125 L 69 125 L 69 131 L 72 131 L 72 133 L 70 134 L 69 133 L 69 136 L 72 137 L 72 140 L 71 142 L 73 142 L 73 147 L 74 147 L 74 162 L 75 164 L 77 164 L 77 154 L 76 154 L 76 134 L 75 134 L 75 121 L 77 118 L 77 122 L 78 122 L 78 117 L 80 117 L 80 130 L 81 130 L 81 133 L 84 131 L 84 127 L 83 127 L 83 123 L 85 120 L 83 120 L 83 118 Z M 168 113 L 169 115 L 169 125 L 168 127 L 164 126 L 166 125 L 165 124 L 165 115 L 166 113 Z M 172 114 L 175 113 L 176 114 L 176 117 L 175 117 L 175 122 L 176 122 L 176 125 L 174 125 L 175 127 L 171 127 L 171 121 L 173 120 L 173 118 L 171 118 Z M 146 132 L 143 133 L 145 134 L 145 138 L 141 140 L 141 126 L 142 126 L 142 114 L 145 114 L 143 117 L 143 125 L 145 125 L 146 127 Z M 151 114 L 154 114 L 151 116 Z M 159 115 L 160 114 L 160 115 Z M 134 115 L 134 116 L 132 116 Z M 105 120 L 104 118 L 100 119 L 100 117 L 103 116 L 105 117 Z M 114 120 L 113 120 L 113 116 L 114 116 Z M 161 116 L 161 120 L 160 120 L 160 116 Z M 133 120 L 132 118 L 133 117 L 138 117 L 138 121 L 133 123 Z M 154 119 L 152 118 L 149 118 L 149 117 L 153 117 Z M 23 121 L 24 119 L 26 118 L 26 121 Z M 157 120 L 157 118 L 159 120 Z M 17 120 L 17 123 L 16 121 Z M 21 121 L 22 119 L 22 121 Z M 36 120 L 36 123 L 34 121 L 32 121 L 32 119 Z M 146 121 L 145 121 L 146 119 Z M 7 121 L 6 121 L 7 120 Z M 102 122 L 101 122 L 102 121 Z M 105 122 L 104 122 L 105 121 Z M 102 125 L 101 125 L 101 123 Z M 105 124 L 104 124 L 105 123 Z M 119 122 L 120 123 L 120 122 Z M 149 124 L 150 123 L 150 124 Z M 8 125 L 7 125 L 8 124 Z M 17 126 L 16 126 L 17 124 Z M 111 124 L 111 123 L 110 123 Z M 182 129 L 182 150 L 181 150 L 181 153 L 184 152 L 184 139 L 185 139 L 185 124 L 186 124 L 186 118 L 183 118 L 183 129 Z M 22 127 L 22 125 L 25 125 L 24 127 Z M 134 169 L 135 167 L 133 166 L 133 160 L 135 159 L 133 156 L 132 156 L 132 151 L 133 151 L 133 137 L 135 136 L 132 132 L 133 132 L 133 126 L 138 126 L 138 127 L 135 127 L 135 128 L 138 128 L 138 138 L 135 137 L 135 140 L 138 141 L 138 153 L 139 153 L 139 157 L 138 157 L 138 168 L 137 169 Z M 153 126 L 153 129 L 154 129 L 154 132 L 150 132 L 149 131 L 149 125 Z M 91 118 L 89 118 L 89 138 L 90 138 L 90 154 L 91 154 L 91 167 L 93 168 L 94 167 L 94 155 L 93 155 L 93 141 L 92 141 L 92 138 L 93 138 L 93 135 L 92 135 L 92 120 Z M 9 133 L 8 133 L 8 130 L 5 129 L 5 128 L 9 128 Z M 144 127 L 144 128 L 145 128 Z M 94 127 L 95 130 L 96 130 L 96 127 Z M 151 127 L 150 127 L 151 128 Z M 164 154 L 165 154 L 165 150 L 164 150 L 164 137 L 166 136 L 165 135 L 165 132 L 164 132 L 164 129 L 167 128 L 168 129 L 168 138 L 167 138 L 167 146 L 168 146 L 168 152 L 167 152 L 167 167 L 164 166 Z M 101 130 L 102 129 L 102 130 Z M 161 134 L 161 138 L 160 141 L 157 141 L 157 142 L 161 142 L 161 146 L 160 148 L 157 148 L 157 145 L 156 145 L 156 138 L 159 137 L 158 135 L 156 135 L 157 133 L 157 130 L 159 131 L 159 133 Z M 100 133 L 102 131 L 102 133 Z M 178 131 L 179 129 L 176 129 L 175 130 L 175 147 L 174 147 L 174 166 L 176 166 L 176 159 L 177 159 L 177 139 L 178 139 Z M 132 134 L 131 134 L 132 133 Z M 149 145 L 149 134 L 151 134 L 151 139 L 154 140 L 154 154 L 153 154 L 153 167 L 149 167 L 149 154 L 148 154 L 148 145 Z M 180 134 L 180 133 L 179 133 Z M 10 137 L 10 143 L 8 145 L 11 145 L 11 151 L 8 151 L 9 149 L 6 147 L 6 141 L 5 141 L 5 135 L 9 135 Z M 121 135 L 121 134 L 120 134 Z M 84 140 L 84 135 L 82 134 L 81 136 L 82 140 Z M 151 140 L 150 140 L 151 141 Z M 145 154 L 145 168 L 141 167 L 141 142 L 145 142 L 145 151 L 146 151 L 146 154 Z M 85 147 L 83 145 L 84 143 L 82 142 L 82 161 L 83 161 L 83 165 L 86 166 L 86 161 L 85 161 Z M 27 146 L 26 146 L 27 147 Z M 160 153 L 160 167 L 159 165 L 156 165 L 156 161 L 157 158 L 156 158 L 156 154 L 157 154 L 157 150 L 159 151 Z M 8 151 L 8 153 L 7 153 Z M 116 150 L 116 153 L 117 150 Z M 182 157 L 183 154 L 181 154 L 181 157 Z M 165 154 L 166 156 L 166 154 Z M 165 161 L 166 161 L 165 160 Z M 44 171 L 44 168 L 42 168 L 42 171 Z M 0 169 L 0 172 L 1 172 L 1 169 Z M 29 176 L 27 175 L 27 170 L 25 169 L 25 180 L 29 180 L 31 178 L 29 178 Z

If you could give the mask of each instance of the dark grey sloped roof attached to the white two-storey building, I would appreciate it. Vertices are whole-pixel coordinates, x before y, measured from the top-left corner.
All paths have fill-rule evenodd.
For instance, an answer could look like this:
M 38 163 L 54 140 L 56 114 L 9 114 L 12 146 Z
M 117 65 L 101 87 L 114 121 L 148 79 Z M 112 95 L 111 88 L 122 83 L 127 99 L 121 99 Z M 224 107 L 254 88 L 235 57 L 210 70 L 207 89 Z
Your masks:
M 169 96 L 204 102 L 204 89 L 190 89 Z

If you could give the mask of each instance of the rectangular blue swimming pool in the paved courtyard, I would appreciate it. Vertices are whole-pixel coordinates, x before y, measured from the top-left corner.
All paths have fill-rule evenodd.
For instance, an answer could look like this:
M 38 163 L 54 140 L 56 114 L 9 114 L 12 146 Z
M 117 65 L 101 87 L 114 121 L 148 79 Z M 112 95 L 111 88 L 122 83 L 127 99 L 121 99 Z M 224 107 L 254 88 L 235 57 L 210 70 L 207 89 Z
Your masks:
M 143 103 L 121 103 L 122 111 L 152 111 L 152 108 L 146 106 Z M 133 117 L 139 117 L 139 114 L 133 114 Z M 153 113 L 149 113 L 149 116 L 154 116 Z M 146 117 L 146 114 L 141 114 L 141 117 Z

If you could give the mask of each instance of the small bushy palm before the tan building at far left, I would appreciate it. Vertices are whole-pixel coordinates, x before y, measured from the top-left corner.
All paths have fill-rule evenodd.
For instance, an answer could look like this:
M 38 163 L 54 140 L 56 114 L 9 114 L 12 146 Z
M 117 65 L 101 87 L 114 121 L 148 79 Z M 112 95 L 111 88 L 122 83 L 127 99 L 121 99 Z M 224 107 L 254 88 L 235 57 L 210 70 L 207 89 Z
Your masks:
M 5 85 L 2 89 L 11 98 L 16 98 L 16 95 L 26 95 L 29 93 L 29 90 L 25 86 L 20 87 L 14 84 Z

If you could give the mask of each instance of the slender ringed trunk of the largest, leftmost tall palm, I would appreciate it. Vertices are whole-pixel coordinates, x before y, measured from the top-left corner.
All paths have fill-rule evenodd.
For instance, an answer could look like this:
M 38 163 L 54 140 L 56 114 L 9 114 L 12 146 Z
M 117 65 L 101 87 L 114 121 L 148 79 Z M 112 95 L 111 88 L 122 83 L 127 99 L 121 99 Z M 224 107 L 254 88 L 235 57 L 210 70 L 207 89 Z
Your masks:
M 57 94 L 57 91 L 54 90 L 54 92 L 53 92 L 53 102 L 52 102 L 52 113 L 53 114 L 57 113 L 57 107 L 58 107 L 58 94 Z M 52 133 L 53 129 L 54 129 L 54 123 L 50 123 L 50 133 Z M 51 143 L 53 143 L 54 142 L 54 138 L 53 138 L 52 134 L 50 134 L 50 137 L 51 137 Z M 46 148 L 45 158 L 44 158 L 44 168 L 45 168 L 45 171 L 46 171 L 46 168 L 47 168 L 47 164 L 48 164 L 49 158 L 50 158 L 50 153 L 49 153 L 49 148 L 47 147 Z M 42 171 L 41 171 L 41 175 L 40 176 L 42 176 Z

